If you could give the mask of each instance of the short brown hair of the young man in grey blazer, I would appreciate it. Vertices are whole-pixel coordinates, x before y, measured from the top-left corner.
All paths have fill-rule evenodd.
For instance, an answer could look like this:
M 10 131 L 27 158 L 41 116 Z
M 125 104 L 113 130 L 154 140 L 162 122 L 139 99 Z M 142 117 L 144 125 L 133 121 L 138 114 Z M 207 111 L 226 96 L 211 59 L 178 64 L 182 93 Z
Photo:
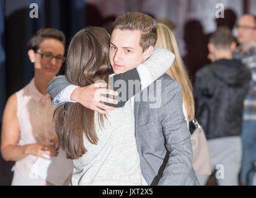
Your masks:
M 157 40 L 157 23 L 151 16 L 141 12 L 126 12 L 115 19 L 111 27 L 120 30 L 140 30 L 141 41 L 139 45 L 145 49 L 154 46 Z

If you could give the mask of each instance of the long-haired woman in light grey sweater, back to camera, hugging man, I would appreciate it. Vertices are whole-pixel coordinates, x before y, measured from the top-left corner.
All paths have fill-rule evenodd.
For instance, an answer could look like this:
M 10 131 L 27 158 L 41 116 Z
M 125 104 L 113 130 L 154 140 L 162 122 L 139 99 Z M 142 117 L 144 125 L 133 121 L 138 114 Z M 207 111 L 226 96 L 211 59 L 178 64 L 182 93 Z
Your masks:
M 104 28 L 87 27 L 76 33 L 67 54 L 66 78 L 69 82 L 80 87 L 97 80 L 108 83 L 109 75 L 113 74 L 108 61 L 109 44 L 110 35 Z M 154 76 L 158 77 L 168 68 L 152 67 L 155 68 Z M 74 159 L 72 185 L 141 184 L 131 108 L 131 103 L 126 102 L 107 115 L 79 103 L 56 108 L 54 119 L 60 146 L 68 158 Z

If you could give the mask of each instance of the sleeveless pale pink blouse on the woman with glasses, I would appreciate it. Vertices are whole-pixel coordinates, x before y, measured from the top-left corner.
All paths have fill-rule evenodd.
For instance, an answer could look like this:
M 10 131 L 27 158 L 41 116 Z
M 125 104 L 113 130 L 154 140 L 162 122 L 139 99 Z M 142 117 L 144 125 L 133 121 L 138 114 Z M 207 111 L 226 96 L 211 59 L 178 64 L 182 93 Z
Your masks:
M 34 79 L 28 85 L 16 92 L 17 118 L 20 127 L 18 145 L 46 142 L 55 136 L 53 124 L 53 112 L 56 106 L 51 105 L 50 96 L 42 95 L 35 87 Z M 14 174 L 22 174 L 28 179 L 33 179 L 30 167 L 37 160 L 34 155 L 28 155 L 22 160 L 16 161 L 12 171 Z M 15 177 L 14 177 L 15 178 Z M 43 182 L 43 181 L 42 181 Z

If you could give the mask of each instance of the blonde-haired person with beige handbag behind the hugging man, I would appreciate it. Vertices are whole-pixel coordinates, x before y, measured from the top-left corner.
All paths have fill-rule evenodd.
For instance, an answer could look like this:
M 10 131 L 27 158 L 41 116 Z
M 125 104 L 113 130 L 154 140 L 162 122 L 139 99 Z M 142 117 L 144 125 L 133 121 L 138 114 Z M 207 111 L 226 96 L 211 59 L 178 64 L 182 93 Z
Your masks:
M 168 49 L 169 51 L 172 51 L 175 54 L 174 63 L 166 73 L 170 75 L 172 79 L 177 80 L 180 83 L 180 85 L 182 85 L 182 98 L 183 98 L 182 110 L 183 110 L 185 119 L 187 121 L 187 126 L 189 127 L 189 122 L 195 118 L 195 105 L 194 105 L 193 92 L 192 92 L 192 83 L 190 82 L 190 79 L 188 77 L 187 68 L 183 63 L 182 58 L 180 58 L 179 48 L 177 46 L 177 41 L 174 37 L 174 33 L 172 32 L 172 30 L 170 30 L 170 28 L 168 28 L 166 25 L 161 23 L 158 23 L 156 47 Z M 194 137 L 196 142 L 201 142 L 199 140 L 200 137 L 198 136 L 194 136 Z M 203 138 L 204 141 L 206 142 L 205 135 L 201 136 L 201 138 Z M 206 144 L 201 143 L 200 145 L 198 145 L 198 147 L 200 147 L 200 149 L 208 150 L 207 143 Z M 193 147 L 193 144 L 192 144 L 192 148 L 194 151 L 195 147 Z M 209 151 L 207 152 L 209 153 Z M 194 160 L 197 160 L 198 158 L 199 158 L 198 155 L 196 156 L 193 155 Z M 195 169 L 196 175 L 208 175 L 210 172 L 209 158 L 205 157 L 203 159 L 196 161 L 195 163 L 194 163 L 194 160 L 193 160 L 193 168 Z M 203 161 L 203 160 L 208 160 L 208 163 L 206 163 L 206 161 Z M 200 161 L 203 161 L 203 162 L 201 163 Z M 200 163 L 200 167 L 198 166 L 198 163 Z M 208 174 L 206 172 L 208 172 Z

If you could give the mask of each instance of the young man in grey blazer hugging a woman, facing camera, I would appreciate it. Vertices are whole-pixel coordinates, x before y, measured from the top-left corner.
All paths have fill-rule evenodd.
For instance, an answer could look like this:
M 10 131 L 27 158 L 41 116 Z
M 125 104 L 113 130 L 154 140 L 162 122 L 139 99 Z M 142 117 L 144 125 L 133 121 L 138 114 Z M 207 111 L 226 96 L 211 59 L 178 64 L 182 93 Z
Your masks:
M 156 21 L 139 12 L 126 12 L 115 20 L 109 51 L 110 64 L 115 74 L 134 69 L 148 59 L 157 40 L 156 30 Z M 160 63 L 161 67 L 161 64 L 166 64 L 163 60 L 159 56 L 156 64 Z M 95 85 L 69 90 L 68 85 L 73 86 L 63 77 L 58 77 L 48 85 L 53 103 L 58 105 L 65 101 L 77 101 L 99 113 L 113 108 L 99 102 L 114 103 L 99 96 L 107 91 L 111 94 L 109 90 L 101 88 L 104 91 L 99 91 Z M 152 101 L 152 98 L 155 100 Z M 192 167 L 190 132 L 182 112 L 180 84 L 164 74 L 145 92 L 131 98 L 130 102 L 134 104 L 135 137 L 143 184 L 199 185 Z

